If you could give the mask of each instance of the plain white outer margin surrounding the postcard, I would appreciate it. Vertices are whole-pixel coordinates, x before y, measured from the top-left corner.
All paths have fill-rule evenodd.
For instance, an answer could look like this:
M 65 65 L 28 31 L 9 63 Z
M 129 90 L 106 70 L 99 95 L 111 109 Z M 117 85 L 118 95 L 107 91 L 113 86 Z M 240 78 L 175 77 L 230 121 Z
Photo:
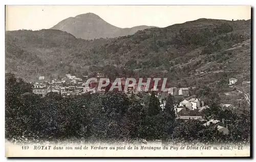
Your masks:
M 0 100 L 1 100 L 1 108 L 2 108 L 2 113 L 1 114 L 1 136 L 0 139 L 2 140 L 2 147 L 1 147 L 1 161 L 6 161 L 8 160 L 7 158 L 5 158 L 5 24 L 4 24 L 4 20 L 5 20 L 5 7 L 4 5 L 252 5 L 252 7 L 255 7 L 255 1 L 249 1 L 249 0 L 243 0 L 243 1 L 223 1 L 223 0 L 215 0 L 215 1 L 185 1 L 185 0 L 176 0 L 176 1 L 164 1 L 164 0 L 158 0 L 158 1 L 139 1 L 139 0 L 130 0 L 130 1 L 99 1 L 99 0 L 94 0 L 94 1 L 90 1 L 90 2 L 84 2 L 84 1 L 77 1 L 77 0 L 72 0 L 72 1 L 67 1 L 67 0 L 62 0 L 62 1 L 52 1 L 52 0 L 45 0 L 45 1 L 28 1 L 28 0 L 24 0 L 24 1 L 1 1 L 1 39 L 2 39 L 2 43 L 1 43 L 1 55 L 0 55 L 0 60 L 2 61 L 1 65 L 1 76 L 3 76 L 1 78 L 1 89 L 0 89 Z M 254 16 L 254 14 L 252 15 L 252 17 Z M 254 24 L 253 24 L 253 31 L 254 31 Z M 253 35 L 252 35 L 253 37 Z M 255 41 L 254 41 L 255 43 Z M 252 45 L 255 45 L 255 44 Z M 253 55 L 253 54 L 251 54 Z M 256 57 L 254 56 L 253 58 L 253 62 L 255 61 Z M 255 65 L 254 65 L 255 66 Z M 253 74 L 255 76 L 255 68 L 253 68 Z M 254 78 L 253 78 L 254 80 Z M 254 91 L 254 86 L 253 86 L 253 91 Z M 252 101 L 255 101 L 255 95 L 253 96 Z M 253 112 L 253 116 L 255 116 L 255 110 Z M 253 120 L 255 121 L 255 119 Z M 254 126 L 254 122 L 252 123 Z M 254 133 L 253 133 L 254 134 Z M 255 134 L 254 134 L 255 135 Z M 254 137 L 254 136 L 253 136 Z M 253 140 L 254 141 L 254 140 Z M 255 145 L 253 145 L 255 146 Z M 253 148 L 254 150 L 254 148 Z M 12 160 L 20 160 L 20 161 L 27 161 L 28 159 L 12 159 Z M 31 159 L 30 161 L 37 161 L 37 160 L 44 160 L 44 159 Z M 45 159 L 47 161 L 54 161 L 56 159 Z M 60 159 L 62 160 L 62 159 Z M 66 161 L 72 161 L 73 159 L 67 159 Z M 82 160 L 87 160 L 87 161 L 91 161 L 92 159 L 82 159 Z M 94 160 L 103 160 L 103 159 L 94 159 Z M 109 159 L 109 160 L 113 160 L 113 159 Z M 117 159 L 116 159 L 117 160 Z M 148 159 L 127 159 L 127 160 L 131 160 L 131 161 L 139 161 L 139 160 L 148 160 Z M 154 159 L 157 160 L 157 159 Z M 161 160 L 172 160 L 172 161 L 183 161 L 183 160 L 193 160 L 193 159 L 161 159 Z M 198 159 L 194 159 L 194 160 L 198 160 Z M 206 159 L 201 159 L 201 160 L 206 160 Z M 210 160 L 210 159 L 207 159 Z M 215 159 L 211 159 L 211 160 L 215 160 Z M 233 160 L 233 159 L 226 159 L 226 160 Z

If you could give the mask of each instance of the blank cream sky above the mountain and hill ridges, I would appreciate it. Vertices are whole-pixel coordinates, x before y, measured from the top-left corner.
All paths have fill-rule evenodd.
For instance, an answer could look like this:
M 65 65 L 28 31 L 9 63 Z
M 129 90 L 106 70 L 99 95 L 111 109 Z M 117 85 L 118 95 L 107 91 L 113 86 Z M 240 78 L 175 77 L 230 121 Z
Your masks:
M 49 29 L 63 19 L 88 12 L 119 28 L 162 28 L 199 18 L 251 18 L 250 6 L 6 6 L 6 30 Z

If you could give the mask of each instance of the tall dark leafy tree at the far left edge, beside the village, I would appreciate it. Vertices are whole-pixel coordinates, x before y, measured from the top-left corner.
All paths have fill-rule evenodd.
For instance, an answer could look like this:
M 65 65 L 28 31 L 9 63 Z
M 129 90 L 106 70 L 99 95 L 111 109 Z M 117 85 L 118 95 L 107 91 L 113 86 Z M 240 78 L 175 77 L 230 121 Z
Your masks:
M 5 76 L 5 126 L 6 136 L 11 137 L 23 133 L 26 127 L 33 122 L 27 118 L 34 114 L 35 105 L 24 102 L 24 98 L 30 98 L 30 103 L 36 103 L 36 97 L 32 93 L 32 85 L 22 79 L 16 79 L 14 74 L 6 73 Z M 34 100 L 34 101 L 33 101 Z M 27 104 L 28 106 L 25 106 Z M 33 116 L 33 115 L 32 115 Z M 33 116 L 34 117 L 34 116 Z M 33 120 L 33 119 L 32 119 Z

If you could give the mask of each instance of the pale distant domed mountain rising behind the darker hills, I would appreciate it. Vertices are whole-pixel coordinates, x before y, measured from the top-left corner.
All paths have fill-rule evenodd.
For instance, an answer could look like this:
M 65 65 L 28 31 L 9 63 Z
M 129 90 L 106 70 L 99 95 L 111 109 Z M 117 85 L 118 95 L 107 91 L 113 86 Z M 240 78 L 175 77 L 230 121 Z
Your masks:
M 118 28 L 104 21 L 94 13 L 86 13 L 69 17 L 60 21 L 51 29 L 61 30 L 73 34 L 77 38 L 114 38 L 131 35 L 138 30 L 153 28 L 148 26 L 137 26 L 133 28 Z

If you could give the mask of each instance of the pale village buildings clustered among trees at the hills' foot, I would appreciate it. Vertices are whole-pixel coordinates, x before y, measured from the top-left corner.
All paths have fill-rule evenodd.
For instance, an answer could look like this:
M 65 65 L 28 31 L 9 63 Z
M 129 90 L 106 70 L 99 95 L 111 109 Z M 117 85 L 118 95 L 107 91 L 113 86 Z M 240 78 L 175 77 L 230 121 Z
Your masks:
M 97 72 L 96 78 L 103 78 L 104 75 L 101 72 Z M 88 76 L 83 76 L 82 78 L 77 78 L 75 75 L 66 74 L 65 77 L 57 80 L 53 79 L 50 82 L 45 80 L 44 76 L 40 76 L 38 81 L 35 82 L 33 85 L 33 93 L 40 95 L 41 97 L 45 97 L 49 92 L 53 92 L 56 94 L 60 94 L 62 97 L 68 96 L 80 96 L 84 94 L 95 94 L 96 92 L 105 92 L 107 91 L 106 88 L 101 89 L 94 89 L 92 91 L 89 90 L 90 87 L 97 86 L 98 82 L 90 83 L 89 86 L 86 86 L 86 81 L 88 80 Z M 238 80 L 236 78 L 229 79 L 229 86 L 233 86 Z M 121 80 L 122 86 L 125 84 L 125 79 Z M 144 91 L 141 87 L 140 90 L 138 89 L 138 84 L 129 84 L 127 90 L 123 90 L 122 92 L 127 96 L 131 97 L 132 94 L 138 95 L 138 93 L 142 94 L 144 97 L 141 100 L 141 105 L 145 105 L 147 97 L 151 96 L 151 91 Z M 225 123 L 225 119 L 222 121 L 219 120 L 210 120 L 206 121 L 203 120 L 202 117 L 202 110 L 208 108 L 208 105 L 205 105 L 204 101 L 199 98 L 193 98 L 190 96 L 190 91 L 195 89 L 196 87 L 169 87 L 167 91 L 158 91 L 156 92 L 156 97 L 159 99 L 160 107 L 162 110 L 166 105 L 166 98 L 170 94 L 174 97 L 177 97 L 179 100 L 175 100 L 175 115 L 176 119 L 179 120 L 200 120 L 206 122 L 205 126 L 216 125 L 220 132 L 224 134 L 228 134 L 228 121 Z M 136 96 L 139 98 L 138 96 Z M 177 99 L 176 98 L 176 99 Z M 180 102 L 179 102 L 180 101 Z M 231 104 L 221 104 L 223 108 L 231 108 L 234 109 L 234 106 Z

